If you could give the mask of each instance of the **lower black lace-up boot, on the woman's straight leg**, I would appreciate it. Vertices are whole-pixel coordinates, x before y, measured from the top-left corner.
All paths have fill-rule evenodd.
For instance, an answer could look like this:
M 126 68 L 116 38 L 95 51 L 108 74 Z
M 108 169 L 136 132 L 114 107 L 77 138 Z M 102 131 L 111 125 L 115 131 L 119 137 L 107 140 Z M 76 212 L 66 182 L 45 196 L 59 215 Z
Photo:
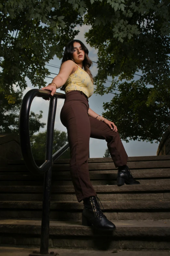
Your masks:
M 91 196 L 83 200 L 82 225 L 93 226 L 98 230 L 114 230 L 115 225 L 102 213 L 97 196 Z

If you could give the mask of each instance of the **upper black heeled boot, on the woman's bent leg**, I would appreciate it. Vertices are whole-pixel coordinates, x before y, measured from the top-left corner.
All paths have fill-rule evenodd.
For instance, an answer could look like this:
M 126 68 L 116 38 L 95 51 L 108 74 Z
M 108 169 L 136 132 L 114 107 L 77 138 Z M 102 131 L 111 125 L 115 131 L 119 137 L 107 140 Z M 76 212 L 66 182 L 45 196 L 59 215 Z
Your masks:
M 140 184 L 139 181 L 133 178 L 132 173 L 127 165 L 118 167 L 117 185 L 124 185 L 124 183 L 127 185 Z

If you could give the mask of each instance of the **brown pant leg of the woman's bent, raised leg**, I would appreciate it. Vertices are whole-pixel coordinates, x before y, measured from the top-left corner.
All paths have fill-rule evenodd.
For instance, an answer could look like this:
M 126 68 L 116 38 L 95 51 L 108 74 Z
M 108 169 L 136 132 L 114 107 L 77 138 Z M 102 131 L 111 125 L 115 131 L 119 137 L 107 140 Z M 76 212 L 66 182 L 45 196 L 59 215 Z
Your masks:
M 127 164 L 127 154 L 121 142 L 119 132 L 111 130 L 105 123 L 89 116 L 91 138 L 106 140 L 115 167 Z

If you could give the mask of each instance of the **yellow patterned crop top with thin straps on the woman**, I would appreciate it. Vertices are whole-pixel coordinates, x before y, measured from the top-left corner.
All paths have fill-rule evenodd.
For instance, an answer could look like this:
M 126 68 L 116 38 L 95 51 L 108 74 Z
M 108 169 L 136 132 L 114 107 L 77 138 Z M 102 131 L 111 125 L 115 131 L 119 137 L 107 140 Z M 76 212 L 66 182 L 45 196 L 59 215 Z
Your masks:
M 78 65 L 76 64 L 76 66 Z M 92 96 L 94 91 L 89 74 L 80 68 L 80 66 L 78 66 L 78 69 L 65 82 L 65 93 L 75 90 L 83 92 L 88 98 Z

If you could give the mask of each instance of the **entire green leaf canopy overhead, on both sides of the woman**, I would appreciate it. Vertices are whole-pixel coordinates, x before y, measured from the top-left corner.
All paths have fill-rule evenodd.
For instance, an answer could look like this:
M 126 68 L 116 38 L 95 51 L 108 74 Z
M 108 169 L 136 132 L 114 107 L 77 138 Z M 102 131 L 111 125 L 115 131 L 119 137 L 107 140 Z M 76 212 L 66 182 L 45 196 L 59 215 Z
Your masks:
M 98 49 L 96 93 L 115 94 L 104 116 L 126 141 L 160 140 L 170 121 L 169 0 L 7 0 L 0 20 L 3 90 L 25 88 L 25 77 L 44 86 L 45 63 L 61 58 L 76 26 L 86 24 L 87 42 Z

